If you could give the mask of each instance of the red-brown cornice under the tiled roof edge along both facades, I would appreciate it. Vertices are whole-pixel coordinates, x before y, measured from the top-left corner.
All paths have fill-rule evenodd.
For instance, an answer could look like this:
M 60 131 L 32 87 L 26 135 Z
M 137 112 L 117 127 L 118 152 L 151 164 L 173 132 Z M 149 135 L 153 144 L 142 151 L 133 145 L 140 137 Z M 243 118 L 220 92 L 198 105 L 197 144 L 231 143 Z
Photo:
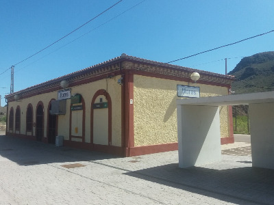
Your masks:
M 193 71 L 197 71 L 195 69 L 182 69 L 182 68 L 172 68 L 171 66 L 164 66 L 164 64 L 162 65 L 155 65 L 155 64 L 150 64 L 150 63 L 146 63 L 146 62 L 140 62 L 140 61 L 135 61 L 135 60 L 130 60 L 130 59 L 121 59 L 119 61 L 115 61 L 115 62 L 110 62 L 110 64 L 105 64 L 102 66 L 99 66 L 98 68 L 94 68 L 94 72 L 92 73 L 93 76 L 90 77 L 90 70 L 85 70 L 85 71 L 81 71 L 81 72 L 74 72 L 72 74 L 68 74 L 64 77 L 66 77 L 66 79 L 70 79 L 70 86 L 77 86 L 77 85 L 82 85 L 82 84 L 86 84 L 86 83 L 90 83 L 90 82 L 94 82 L 94 81 L 99 81 L 100 79 L 105 79 L 107 77 L 111 76 L 115 76 L 118 74 L 121 74 L 121 70 L 124 72 L 129 72 L 129 69 L 125 68 L 124 66 L 121 66 L 120 70 L 114 70 L 114 71 L 110 71 L 108 73 L 105 73 L 105 68 L 108 69 L 109 66 L 115 66 L 117 63 L 122 64 L 122 62 L 132 62 L 132 63 L 136 63 L 136 64 L 147 64 L 147 65 L 151 65 L 151 66 L 156 66 L 159 68 L 164 68 L 164 69 L 168 69 L 168 70 L 178 70 L 179 72 L 183 71 L 183 72 L 193 72 Z M 101 70 L 101 71 L 99 71 Z M 225 77 L 225 76 L 216 76 L 214 73 L 203 73 L 203 70 L 199 70 L 201 72 L 201 74 L 203 74 L 204 76 L 212 76 L 215 77 L 217 79 L 229 79 L 231 81 L 234 81 L 234 79 L 229 78 L 229 77 Z M 101 73 L 100 73 L 101 72 Z M 103 72 L 103 74 L 102 74 Z M 164 79 L 171 79 L 171 80 L 176 80 L 176 81 L 186 81 L 189 82 L 190 79 L 188 77 L 176 77 L 176 76 L 169 76 L 169 75 L 165 75 L 165 74 L 158 74 L 158 73 L 153 73 L 153 71 L 149 71 L 149 72 L 145 72 L 145 71 L 140 71 L 138 70 L 138 68 L 136 68 L 136 66 L 134 66 L 134 69 L 130 69 L 130 72 L 132 72 L 132 74 L 140 74 L 140 75 L 145 75 L 148 77 L 158 77 L 158 78 L 164 78 Z M 95 74 L 97 74 L 97 76 L 95 76 Z M 81 76 L 81 77 L 79 77 Z M 78 79 L 79 78 L 79 79 Z M 29 98 L 32 96 L 36 96 L 38 94 L 45 94 L 48 92 L 54 92 L 57 90 L 60 90 L 60 85 L 59 85 L 59 81 L 62 81 L 62 77 L 58 78 L 58 79 L 53 79 L 51 81 L 45 82 L 45 83 L 41 83 L 40 85 L 35 85 L 29 88 L 26 88 L 25 90 L 22 90 L 22 92 L 18 92 L 21 93 L 21 97 L 22 98 Z M 206 84 L 206 85 L 218 85 L 218 86 L 223 86 L 223 87 L 230 87 L 229 84 L 225 84 L 225 83 L 214 83 L 211 81 L 202 81 L 200 79 L 199 83 L 201 84 Z M 10 94 L 7 96 L 8 102 L 12 102 L 14 101 L 13 95 Z

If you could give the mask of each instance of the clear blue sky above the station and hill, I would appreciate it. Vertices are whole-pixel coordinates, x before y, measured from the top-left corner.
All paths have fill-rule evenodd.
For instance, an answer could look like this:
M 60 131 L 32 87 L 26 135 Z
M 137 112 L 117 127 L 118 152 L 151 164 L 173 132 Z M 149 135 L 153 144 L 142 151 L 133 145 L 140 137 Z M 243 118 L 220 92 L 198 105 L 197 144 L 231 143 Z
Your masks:
M 0 0 L 0 73 L 118 1 Z M 125 12 L 139 2 L 142 0 L 121 1 L 60 42 L 16 65 L 14 92 L 122 53 L 168 62 L 274 29 L 273 0 L 146 0 Z M 230 71 L 241 57 L 264 51 L 274 51 L 274 32 L 173 64 L 225 74 L 226 57 Z M 0 87 L 7 87 L 0 88 L 3 98 L 10 92 L 10 70 L 0 75 Z M 1 105 L 5 105 L 5 99 Z

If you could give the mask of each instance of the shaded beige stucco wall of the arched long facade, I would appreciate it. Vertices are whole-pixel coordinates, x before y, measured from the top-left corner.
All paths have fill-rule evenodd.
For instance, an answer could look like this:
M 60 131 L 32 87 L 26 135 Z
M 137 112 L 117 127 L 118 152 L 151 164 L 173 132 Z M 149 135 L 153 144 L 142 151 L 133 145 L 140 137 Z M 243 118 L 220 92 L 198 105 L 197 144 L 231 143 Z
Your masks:
M 86 116 L 85 116 L 85 141 L 90 142 L 90 107 L 92 97 L 95 95 L 95 92 L 98 90 L 104 89 L 110 94 L 110 98 L 112 100 L 112 146 L 121 146 L 121 85 L 117 83 L 117 80 L 121 76 L 113 77 L 112 79 L 103 79 L 99 81 L 95 81 L 92 83 L 87 83 L 84 85 L 79 85 L 76 87 L 69 87 L 71 88 L 71 94 L 81 94 L 82 98 L 85 101 L 86 107 Z M 61 89 L 60 89 L 61 90 Z M 14 108 L 14 131 L 15 131 L 15 111 L 17 105 L 21 108 L 21 131 L 20 133 L 25 135 L 26 134 L 26 112 L 27 112 L 27 105 L 32 103 L 33 107 L 33 114 L 34 114 L 34 122 L 36 122 L 36 106 L 39 101 L 43 102 L 44 105 L 44 137 L 47 136 L 47 110 L 49 106 L 49 101 L 52 99 L 58 98 L 58 91 L 49 92 L 46 94 L 40 94 L 37 96 L 32 96 L 30 98 L 24 98 L 18 100 L 18 102 L 9 102 L 9 111 L 10 108 Z M 66 115 L 58 115 L 58 135 L 64 136 L 64 139 L 69 139 L 69 121 L 70 121 L 70 106 L 71 100 L 66 100 Z M 79 115 L 81 115 L 81 111 Z M 75 115 L 75 111 L 72 111 L 73 115 Z M 78 117 L 79 117 L 78 115 Z M 75 116 L 74 116 L 75 117 Z M 77 124 L 78 131 L 81 130 L 79 126 L 82 126 L 79 122 L 75 122 L 76 118 L 73 118 L 73 126 Z M 78 120 L 82 120 L 82 118 L 78 118 Z M 75 124 L 76 123 L 76 124 Z M 73 132 L 74 127 L 72 126 Z M 8 127 L 8 126 L 7 126 Z M 73 133 L 73 135 L 76 135 Z M 82 132 L 83 133 L 83 132 Z M 34 128 L 34 135 L 35 135 L 35 128 Z M 79 136 L 79 133 L 76 135 Z M 74 139 L 73 139 L 74 140 Z M 75 141 L 82 141 L 82 139 L 75 139 Z

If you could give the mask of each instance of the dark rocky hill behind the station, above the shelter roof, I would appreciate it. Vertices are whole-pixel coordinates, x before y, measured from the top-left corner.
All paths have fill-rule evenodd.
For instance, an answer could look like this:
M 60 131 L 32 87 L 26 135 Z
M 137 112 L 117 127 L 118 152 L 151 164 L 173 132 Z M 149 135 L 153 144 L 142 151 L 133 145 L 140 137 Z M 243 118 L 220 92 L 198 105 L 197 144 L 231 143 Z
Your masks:
M 274 51 L 244 57 L 228 74 L 234 75 L 236 94 L 274 90 Z

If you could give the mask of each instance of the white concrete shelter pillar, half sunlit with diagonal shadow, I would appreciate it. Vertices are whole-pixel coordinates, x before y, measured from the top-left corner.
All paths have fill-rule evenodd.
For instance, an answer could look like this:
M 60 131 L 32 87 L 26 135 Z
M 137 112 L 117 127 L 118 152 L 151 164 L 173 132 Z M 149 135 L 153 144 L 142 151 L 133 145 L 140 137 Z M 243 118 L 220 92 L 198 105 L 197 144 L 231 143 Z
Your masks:
M 179 167 L 221 160 L 218 106 L 177 105 Z

